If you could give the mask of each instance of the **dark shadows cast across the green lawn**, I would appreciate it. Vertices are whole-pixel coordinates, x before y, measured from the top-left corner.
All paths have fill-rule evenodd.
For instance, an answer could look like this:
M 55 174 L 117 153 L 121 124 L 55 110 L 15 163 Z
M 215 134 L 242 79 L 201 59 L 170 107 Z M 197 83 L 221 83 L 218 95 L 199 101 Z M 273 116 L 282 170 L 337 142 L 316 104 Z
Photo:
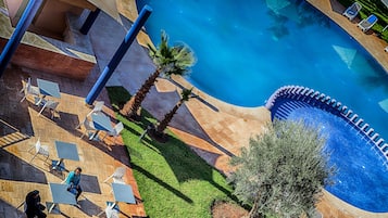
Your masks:
M 129 100 L 130 95 L 123 87 L 112 87 L 109 90 L 111 103 L 117 112 L 120 107 L 125 103 L 125 101 Z M 118 115 L 117 119 L 125 119 L 125 117 Z M 143 133 L 145 129 L 147 129 L 147 127 L 153 123 L 155 123 L 155 119 L 146 110 L 141 110 L 141 119 L 139 121 L 129 123 L 127 120 L 123 120 L 125 129 L 128 131 L 128 133 L 135 134 L 137 137 L 140 137 Z M 125 138 L 125 136 L 123 136 L 123 138 Z M 206 138 L 209 139 L 209 137 Z M 221 192 L 223 192 L 225 195 L 233 198 L 231 192 L 229 190 L 214 181 L 213 174 L 215 172 L 215 169 L 211 165 L 205 163 L 179 139 L 175 138 L 172 134 L 168 134 L 168 141 L 166 143 L 159 143 L 148 137 L 142 138 L 141 142 L 148 149 L 164 157 L 179 183 L 189 180 L 204 180 L 211 183 Z M 229 151 L 225 150 L 215 142 L 211 141 L 211 144 L 217 148 L 220 151 L 224 152 L 225 154 L 234 156 Z M 133 155 L 132 150 L 134 152 L 136 150 L 132 149 L 130 145 L 127 148 L 129 150 L 129 153 Z M 138 155 L 141 156 L 141 154 Z M 186 202 L 192 203 L 192 200 L 190 200 L 188 196 L 184 195 L 175 188 L 157 178 L 147 169 L 141 168 L 141 166 L 138 166 L 134 163 L 132 163 L 130 166 L 133 169 L 138 170 L 140 174 L 143 174 L 148 178 L 154 180 L 155 182 L 170 190 L 177 196 L 182 197 Z

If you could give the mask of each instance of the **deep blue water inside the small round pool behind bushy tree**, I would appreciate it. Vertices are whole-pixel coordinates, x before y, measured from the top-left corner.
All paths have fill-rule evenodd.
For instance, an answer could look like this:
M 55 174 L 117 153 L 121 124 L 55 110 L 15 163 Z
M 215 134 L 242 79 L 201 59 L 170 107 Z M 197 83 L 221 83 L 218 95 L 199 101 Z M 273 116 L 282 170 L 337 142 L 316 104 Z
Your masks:
M 339 198 L 368 211 L 388 211 L 388 171 L 381 165 L 387 161 L 377 148 L 342 118 L 313 107 L 292 111 L 288 119 L 303 118 L 326 137 L 329 165 L 338 168 L 335 185 L 325 189 Z

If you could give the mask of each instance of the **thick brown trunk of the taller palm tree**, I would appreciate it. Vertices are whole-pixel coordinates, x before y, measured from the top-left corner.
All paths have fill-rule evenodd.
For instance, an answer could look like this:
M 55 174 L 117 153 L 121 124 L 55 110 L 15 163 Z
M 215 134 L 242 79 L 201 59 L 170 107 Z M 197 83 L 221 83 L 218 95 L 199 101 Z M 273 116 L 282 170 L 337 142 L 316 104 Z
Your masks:
M 134 97 L 127 101 L 120 113 L 123 116 L 133 118 L 139 116 L 138 111 L 141 106 L 142 101 L 146 99 L 148 92 L 151 90 L 151 87 L 155 84 L 157 78 L 159 77 L 161 70 L 158 68 L 150 77 L 145 81 L 141 88 L 136 92 Z

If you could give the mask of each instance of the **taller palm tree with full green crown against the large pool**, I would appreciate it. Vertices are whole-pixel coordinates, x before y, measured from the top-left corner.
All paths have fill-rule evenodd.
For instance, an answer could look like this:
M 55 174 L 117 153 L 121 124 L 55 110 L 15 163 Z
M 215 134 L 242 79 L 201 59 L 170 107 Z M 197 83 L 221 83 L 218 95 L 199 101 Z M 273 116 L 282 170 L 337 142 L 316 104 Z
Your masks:
M 150 75 L 136 94 L 120 111 L 122 115 L 128 118 L 135 118 L 140 115 L 141 102 L 146 99 L 147 93 L 161 74 L 168 78 L 171 75 L 184 76 L 196 62 L 193 52 L 186 44 L 168 47 L 168 36 L 164 31 L 162 31 L 161 38 L 159 48 L 154 49 L 150 44 L 148 46 L 150 56 L 157 65 L 155 72 Z

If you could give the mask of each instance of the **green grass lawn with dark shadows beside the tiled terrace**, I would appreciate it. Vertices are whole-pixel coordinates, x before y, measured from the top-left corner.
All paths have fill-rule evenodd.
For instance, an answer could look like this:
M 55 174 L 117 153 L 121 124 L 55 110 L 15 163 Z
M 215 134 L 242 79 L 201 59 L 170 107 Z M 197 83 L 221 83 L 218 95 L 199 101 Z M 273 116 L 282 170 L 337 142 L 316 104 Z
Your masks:
M 108 92 L 115 110 L 130 97 L 122 87 Z M 147 125 L 155 123 L 150 114 L 143 112 L 137 124 L 116 114 L 125 126 L 122 137 L 148 216 L 205 218 L 214 200 L 231 201 L 225 178 L 171 132 L 164 144 L 149 137 L 138 141 Z

